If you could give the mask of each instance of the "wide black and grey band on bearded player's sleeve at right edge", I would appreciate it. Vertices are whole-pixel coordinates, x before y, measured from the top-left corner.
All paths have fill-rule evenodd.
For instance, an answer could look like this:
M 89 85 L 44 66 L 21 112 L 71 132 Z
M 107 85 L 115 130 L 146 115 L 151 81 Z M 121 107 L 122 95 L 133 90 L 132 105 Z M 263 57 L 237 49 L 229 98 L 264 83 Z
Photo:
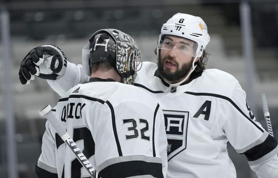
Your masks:
M 259 145 L 254 146 L 243 154 L 247 157 L 249 162 L 253 162 L 253 164 L 257 164 L 257 162 L 263 162 L 278 153 L 278 143 L 271 136 L 268 135 L 266 140 Z M 256 161 L 256 162 L 254 162 Z

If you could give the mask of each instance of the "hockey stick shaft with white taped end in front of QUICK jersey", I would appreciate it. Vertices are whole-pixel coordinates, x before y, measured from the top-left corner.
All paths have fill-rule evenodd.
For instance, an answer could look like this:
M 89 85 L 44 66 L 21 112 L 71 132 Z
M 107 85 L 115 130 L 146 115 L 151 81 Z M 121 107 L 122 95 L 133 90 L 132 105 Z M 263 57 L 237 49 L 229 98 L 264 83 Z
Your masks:
M 64 140 L 64 142 L 70 148 L 70 150 L 75 155 L 75 157 L 78 159 L 78 161 L 82 164 L 82 166 L 87 170 L 89 175 L 92 178 L 95 178 L 94 167 L 88 161 L 88 159 L 85 157 L 85 155 L 81 152 L 81 150 L 78 148 L 76 143 L 72 140 L 72 138 L 69 136 L 67 131 L 64 129 L 63 125 L 58 121 L 58 119 L 55 117 L 55 115 L 51 112 L 51 109 L 52 109 L 51 106 L 47 105 L 39 113 L 42 116 L 45 116 L 45 118 L 50 122 L 50 124 L 52 124 L 54 129 L 58 132 L 58 134 L 60 135 L 62 140 Z

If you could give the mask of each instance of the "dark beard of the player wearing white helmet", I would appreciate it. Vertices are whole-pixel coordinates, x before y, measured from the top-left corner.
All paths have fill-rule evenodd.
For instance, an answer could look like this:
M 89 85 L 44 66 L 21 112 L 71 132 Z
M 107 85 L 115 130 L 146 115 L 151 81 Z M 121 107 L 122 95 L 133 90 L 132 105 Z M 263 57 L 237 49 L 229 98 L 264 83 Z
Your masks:
M 186 77 L 186 75 L 189 73 L 189 71 L 192 68 L 192 63 L 193 63 L 193 59 L 191 60 L 191 62 L 183 64 L 182 68 L 179 69 L 179 64 L 175 61 L 175 59 L 171 56 L 165 56 L 163 59 L 161 59 L 161 56 L 158 56 L 158 71 L 160 73 L 160 75 L 162 76 L 162 78 L 168 80 L 168 81 L 176 81 L 176 80 L 180 80 L 184 77 Z M 176 64 L 176 71 L 175 72 L 170 72 L 169 69 L 164 69 L 164 62 L 166 60 L 172 60 L 175 62 Z

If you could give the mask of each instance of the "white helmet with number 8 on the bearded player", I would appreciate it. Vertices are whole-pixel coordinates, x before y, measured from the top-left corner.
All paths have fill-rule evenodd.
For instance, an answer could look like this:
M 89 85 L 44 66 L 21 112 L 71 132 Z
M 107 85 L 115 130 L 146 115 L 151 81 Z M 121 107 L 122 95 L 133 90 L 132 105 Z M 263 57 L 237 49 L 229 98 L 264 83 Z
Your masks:
M 193 57 L 201 57 L 210 40 L 206 24 L 200 17 L 182 13 L 175 14 L 163 24 L 157 41 L 157 50 L 161 48 L 160 44 L 165 35 L 174 35 L 196 42 L 197 49 Z

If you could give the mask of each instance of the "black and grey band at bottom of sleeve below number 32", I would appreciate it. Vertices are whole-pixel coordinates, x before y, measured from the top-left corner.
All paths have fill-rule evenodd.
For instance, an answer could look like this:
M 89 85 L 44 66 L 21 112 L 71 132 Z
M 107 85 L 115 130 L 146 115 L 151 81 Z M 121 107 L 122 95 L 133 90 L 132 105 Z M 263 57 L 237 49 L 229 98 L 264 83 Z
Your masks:
M 103 164 L 108 166 L 103 167 Z M 147 157 L 144 155 L 131 155 L 111 158 L 105 161 L 99 175 L 102 178 L 163 178 L 162 160 L 157 157 Z

